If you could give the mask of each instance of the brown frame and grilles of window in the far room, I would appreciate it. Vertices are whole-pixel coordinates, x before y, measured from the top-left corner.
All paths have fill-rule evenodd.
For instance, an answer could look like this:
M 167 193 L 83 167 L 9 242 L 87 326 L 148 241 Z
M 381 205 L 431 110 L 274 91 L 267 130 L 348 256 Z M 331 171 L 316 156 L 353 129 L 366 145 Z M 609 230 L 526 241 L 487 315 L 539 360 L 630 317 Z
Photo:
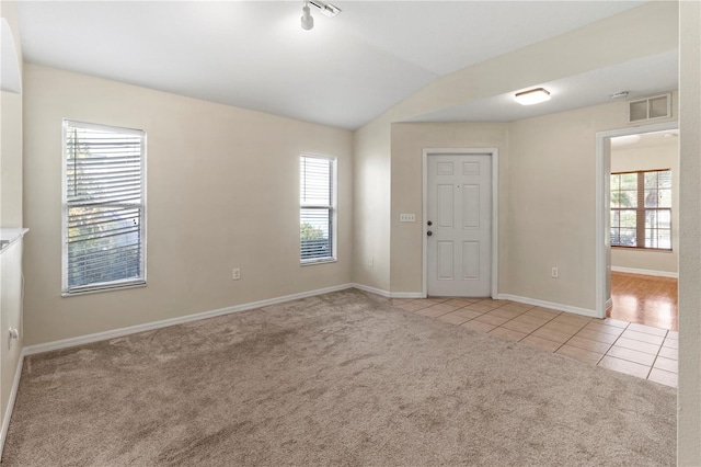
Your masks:
M 610 186 L 609 187 L 609 212 L 613 213 L 613 212 L 625 212 L 625 210 L 633 210 L 635 212 L 635 232 L 636 232 L 636 244 L 635 246 L 628 246 L 628 244 L 614 244 L 613 241 L 611 240 L 611 231 L 614 228 L 611 225 L 611 220 L 610 220 L 610 215 L 609 215 L 609 241 L 611 244 L 611 248 L 617 248 L 617 249 L 629 249 L 629 250 L 644 250 L 644 251 L 659 251 L 659 252 L 671 252 L 674 251 L 674 224 L 673 224 L 673 208 L 674 206 L 670 207 L 645 207 L 645 174 L 646 173 L 653 173 L 653 172 L 669 172 L 670 178 L 674 175 L 673 171 L 670 168 L 667 169 L 645 169 L 645 170 L 629 170 L 629 171 L 620 171 L 620 172 L 611 172 L 609 178 L 612 175 L 624 175 L 624 174 L 635 174 L 637 178 L 637 183 L 636 183 L 636 189 L 635 189 L 635 195 L 636 195 L 636 206 L 635 207 L 612 207 L 611 204 L 611 200 L 612 200 L 612 193 L 613 193 L 613 189 Z M 670 195 L 674 200 L 674 179 L 673 179 L 673 186 L 669 187 L 669 192 Z M 659 185 L 656 187 L 657 191 L 659 191 Z M 619 190 L 620 191 L 620 190 Z M 673 203 L 670 203 L 673 204 Z M 659 247 L 645 247 L 645 214 L 647 212 L 651 210 L 656 210 L 656 212 L 662 212 L 662 210 L 666 210 L 669 213 L 669 248 L 659 248 Z M 619 219 L 620 219 L 620 214 L 619 214 Z M 620 237 L 620 227 L 619 228 L 619 237 Z M 659 228 L 656 228 L 655 230 L 658 230 Z M 664 229 L 666 230 L 666 229 Z M 641 240 L 642 240 L 642 244 L 641 244 Z

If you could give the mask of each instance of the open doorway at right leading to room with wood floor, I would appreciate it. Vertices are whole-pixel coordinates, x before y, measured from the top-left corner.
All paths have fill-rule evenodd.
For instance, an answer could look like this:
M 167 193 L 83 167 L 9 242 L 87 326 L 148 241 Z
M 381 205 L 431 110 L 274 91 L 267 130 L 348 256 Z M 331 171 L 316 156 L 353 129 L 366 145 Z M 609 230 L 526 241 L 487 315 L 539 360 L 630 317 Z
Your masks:
M 676 331 L 678 124 L 597 134 L 597 316 Z

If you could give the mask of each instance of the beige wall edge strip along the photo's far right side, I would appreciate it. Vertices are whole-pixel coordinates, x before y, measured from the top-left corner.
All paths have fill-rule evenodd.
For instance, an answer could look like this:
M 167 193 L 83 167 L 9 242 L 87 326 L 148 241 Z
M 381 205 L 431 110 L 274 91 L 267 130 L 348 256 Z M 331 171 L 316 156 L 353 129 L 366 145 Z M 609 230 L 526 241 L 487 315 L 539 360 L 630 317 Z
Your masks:
M 701 3 L 680 4 L 679 466 L 701 466 Z

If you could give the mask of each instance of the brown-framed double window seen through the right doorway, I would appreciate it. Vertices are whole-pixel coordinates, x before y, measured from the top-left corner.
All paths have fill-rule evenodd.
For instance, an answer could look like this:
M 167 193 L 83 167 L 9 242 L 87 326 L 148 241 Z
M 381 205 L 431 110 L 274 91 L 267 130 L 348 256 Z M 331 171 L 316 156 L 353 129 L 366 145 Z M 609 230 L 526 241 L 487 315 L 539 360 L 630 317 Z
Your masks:
M 611 246 L 671 250 L 671 171 L 611 173 Z

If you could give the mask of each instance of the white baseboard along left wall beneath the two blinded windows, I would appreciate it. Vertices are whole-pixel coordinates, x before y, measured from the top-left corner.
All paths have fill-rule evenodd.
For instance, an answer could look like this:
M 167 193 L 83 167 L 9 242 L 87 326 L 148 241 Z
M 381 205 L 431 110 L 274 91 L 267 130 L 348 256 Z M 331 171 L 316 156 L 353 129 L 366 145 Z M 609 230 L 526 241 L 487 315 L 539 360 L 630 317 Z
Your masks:
M 127 328 L 112 329 L 110 331 L 96 332 L 94 334 L 80 335 L 78 338 L 62 339 L 60 341 L 47 342 L 43 344 L 27 345 L 24 348 L 24 355 L 34 355 L 37 353 L 50 352 L 59 349 L 72 348 L 76 345 L 88 344 L 92 342 L 105 341 L 108 339 L 120 338 L 124 335 L 136 334 L 137 332 L 151 331 L 153 329 L 166 328 L 169 326 L 182 324 L 184 322 L 197 321 L 200 319 L 214 318 L 216 316 L 229 315 L 238 311 L 245 311 L 254 308 L 262 308 L 269 305 L 281 304 L 285 301 L 297 300 L 300 298 L 313 297 L 314 295 L 329 294 L 331 292 L 345 291 L 353 288 L 354 284 L 342 284 L 333 287 L 319 288 L 317 291 L 301 292 L 299 294 L 285 295 L 283 297 L 269 298 L 267 300 L 252 301 L 249 304 L 235 305 L 233 307 L 220 308 L 211 311 L 204 311 L 194 315 L 181 316 L 177 318 L 164 319 L 161 321 L 152 321 L 143 324 L 129 326 Z

